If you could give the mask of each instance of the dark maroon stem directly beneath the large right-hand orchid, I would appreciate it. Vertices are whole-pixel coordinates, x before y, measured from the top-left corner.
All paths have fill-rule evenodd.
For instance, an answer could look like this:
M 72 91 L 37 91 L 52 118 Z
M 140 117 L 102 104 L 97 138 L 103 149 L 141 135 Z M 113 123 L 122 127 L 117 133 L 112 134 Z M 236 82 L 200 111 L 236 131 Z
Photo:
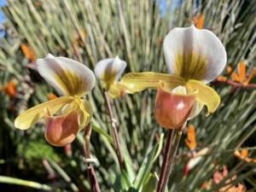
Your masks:
M 165 157 L 164 157 L 163 165 L 161 167 L 160 180 L 158 182 L 157 190 L 156 190 L 157 192 L 164 192 L 166 189 L 166 185 L 169 181 L 169 177 L 172 172 L 172 166 L 175 159 L 175 155 L 177 153 L 177 148 L 180 142 L 180 138 L 182 136 L 182 127 L 176 131 L 174 144 L 173 144 L 173 147 L 171 148 L 172 139 L 174 135 L 173 132 L 174 131 L 170 130 L 167 136 Z M 165 158 L 167 160 L 165 160 Z

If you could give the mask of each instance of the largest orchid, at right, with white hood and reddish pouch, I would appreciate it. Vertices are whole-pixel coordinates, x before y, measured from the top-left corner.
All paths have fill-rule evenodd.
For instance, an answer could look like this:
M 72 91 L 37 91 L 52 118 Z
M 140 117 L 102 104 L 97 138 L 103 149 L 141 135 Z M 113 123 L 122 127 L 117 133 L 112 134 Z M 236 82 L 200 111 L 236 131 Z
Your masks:
M 220 97 L 207 83 L 224 70 L 227 60 L 224 45 L 214 33 L 190 26 L 169 32 L 163 48 L 169 74 L 127 73 L 120 84 L 131 93 L 157 89 L 154 114 L 166 128 L 177 128 L 186 119 L 194 118 L 204 105 L 208 113 L 213 113 Z

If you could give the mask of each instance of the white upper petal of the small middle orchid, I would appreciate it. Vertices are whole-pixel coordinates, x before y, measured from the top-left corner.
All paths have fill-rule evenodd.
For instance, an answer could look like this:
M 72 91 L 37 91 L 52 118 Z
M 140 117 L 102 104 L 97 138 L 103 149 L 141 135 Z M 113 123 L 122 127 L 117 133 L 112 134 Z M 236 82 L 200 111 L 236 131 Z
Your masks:
M 94 73 L 97 79 L 101 79 L 109 89 L 110 85 L 116 82 L 124 73 L 126 62 L 115 58 L 108 58 L 96 63 Z

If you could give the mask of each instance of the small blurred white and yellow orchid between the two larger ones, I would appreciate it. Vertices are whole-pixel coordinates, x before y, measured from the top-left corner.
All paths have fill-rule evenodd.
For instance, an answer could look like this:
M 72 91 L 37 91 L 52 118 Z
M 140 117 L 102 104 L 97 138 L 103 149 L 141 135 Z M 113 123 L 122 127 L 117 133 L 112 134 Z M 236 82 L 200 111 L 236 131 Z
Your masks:
M 104 88 L 108 91 L 109 95 L 113 98 L 121 96 L 125 89 L 118 80 L 124 73 L 126 62 L 115 58 L 108 58 L 96 63 L 94 73 L 96 78 L 100 79 Z

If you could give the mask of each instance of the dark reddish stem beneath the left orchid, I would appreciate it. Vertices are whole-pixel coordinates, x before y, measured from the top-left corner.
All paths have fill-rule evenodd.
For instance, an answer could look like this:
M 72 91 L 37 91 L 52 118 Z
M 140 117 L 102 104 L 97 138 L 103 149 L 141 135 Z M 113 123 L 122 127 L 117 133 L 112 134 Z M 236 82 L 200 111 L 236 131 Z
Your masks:
M 84 157 L 90 159 L 90 124 L 84 128 Z M 101 192 L 100 185 L 96 178 L 95 170 L 90 162 L 87 163 L 87 174 L 90 179 L 90 190 L 92 192 Z

